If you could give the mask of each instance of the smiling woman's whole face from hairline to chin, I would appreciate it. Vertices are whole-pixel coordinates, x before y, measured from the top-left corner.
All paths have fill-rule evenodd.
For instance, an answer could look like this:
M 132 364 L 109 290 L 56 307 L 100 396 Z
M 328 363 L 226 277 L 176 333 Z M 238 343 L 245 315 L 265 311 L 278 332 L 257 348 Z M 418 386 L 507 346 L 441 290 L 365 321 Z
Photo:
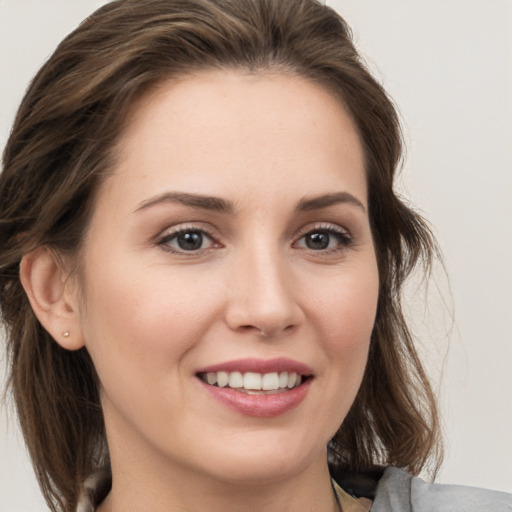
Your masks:
M 80 312 L 114 468 L 241 482 L 325 465 L 378 294 L 346 111 L 302 78 L 204 72 L 140 101 L 118 149 Z

